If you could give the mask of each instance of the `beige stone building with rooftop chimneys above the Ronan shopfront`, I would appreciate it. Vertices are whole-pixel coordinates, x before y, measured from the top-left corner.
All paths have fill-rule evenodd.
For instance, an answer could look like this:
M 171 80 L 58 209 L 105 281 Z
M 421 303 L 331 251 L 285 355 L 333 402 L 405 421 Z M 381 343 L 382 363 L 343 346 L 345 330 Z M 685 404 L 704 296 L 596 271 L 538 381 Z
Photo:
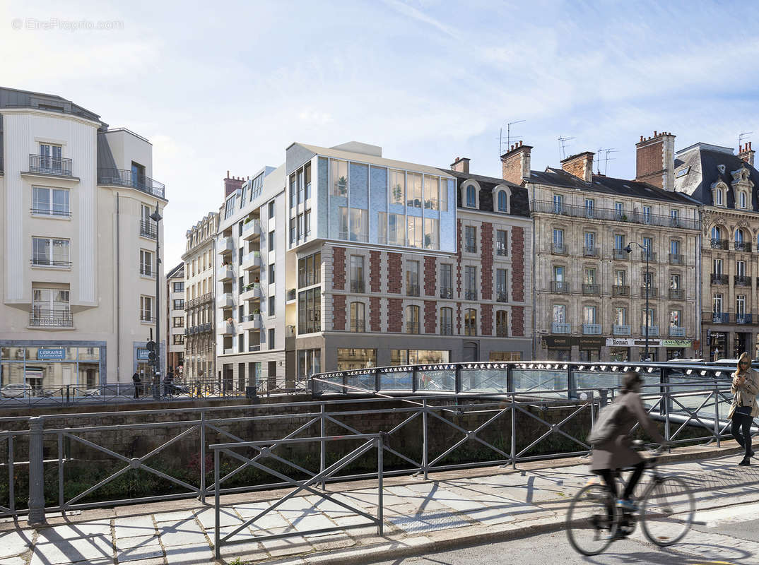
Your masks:
M 639 171 L 651 151 L 638 144 Z M 531 198 L 536 358 L 640 360 L 646 342 L 653 360 L 693 356 L 698 202 L 672 184 L 594 174 L 592 152 L 531 171 L 530 152 L 518 143 L 502 163 L 504 177 L 521 181 Z

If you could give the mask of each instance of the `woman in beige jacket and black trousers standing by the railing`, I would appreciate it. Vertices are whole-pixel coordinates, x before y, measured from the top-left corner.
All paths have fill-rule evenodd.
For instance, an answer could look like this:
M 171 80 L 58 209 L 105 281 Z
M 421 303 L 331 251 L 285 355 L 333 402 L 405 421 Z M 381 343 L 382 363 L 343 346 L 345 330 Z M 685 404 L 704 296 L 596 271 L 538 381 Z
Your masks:
M 759 392 L 759 375 L 751 369 L 751 357 L 741 353 L 738 359 L 738 370 L 732 373 L 732 404 L 728 418 L 732 419 L 730 432 L 745 450 L 739 465 L 751 465 L 754 450 L 751 449 L 751 423 L 759 416 L 757 392 Z

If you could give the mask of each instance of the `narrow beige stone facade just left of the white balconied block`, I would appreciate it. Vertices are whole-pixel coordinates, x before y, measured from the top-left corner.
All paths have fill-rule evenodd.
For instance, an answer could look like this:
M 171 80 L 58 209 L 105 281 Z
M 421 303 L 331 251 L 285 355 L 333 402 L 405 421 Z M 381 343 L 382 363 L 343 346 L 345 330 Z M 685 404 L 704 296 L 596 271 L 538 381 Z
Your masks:
M 219 214 L 209 212 L 187 230 L 184 262 L 185 381 L 213 378 L 216 368 L 216 231 Z

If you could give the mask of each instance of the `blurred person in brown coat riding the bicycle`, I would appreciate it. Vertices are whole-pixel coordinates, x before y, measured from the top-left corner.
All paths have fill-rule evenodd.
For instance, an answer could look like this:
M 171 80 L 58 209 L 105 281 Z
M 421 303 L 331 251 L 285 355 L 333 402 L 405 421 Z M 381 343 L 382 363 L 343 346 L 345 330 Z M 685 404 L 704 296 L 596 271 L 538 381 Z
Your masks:
M 619 396 L 614 402 L 622 403 L 625 410 L 621 410 L 616 422 L 616 432 L 613 438 L 598 444 L 594 447 L 591 462 L 591 471 L 601 477 L 616 501 L 616 505 L 624 510 L 637 511 L 638 507 L 632 500 L 632 493 L 635 491 L 635 485 L 643 475 L 644 461 L 638 452 L 632 449 L 630 432 L 636 423 L 640 422 L 641 427 L 659 444 L 664 443 L 664 438 L 659 433 L 656 424 L 650 419 L 643 407 L 641 400 L 641 385 L 643 379 L 638 372 L 628 371 L 622 378 L 622 388 L 619 389 Z M 632 467 L 633 472 L 630 480 L 619 498 L 615 476 L 619 469 Z

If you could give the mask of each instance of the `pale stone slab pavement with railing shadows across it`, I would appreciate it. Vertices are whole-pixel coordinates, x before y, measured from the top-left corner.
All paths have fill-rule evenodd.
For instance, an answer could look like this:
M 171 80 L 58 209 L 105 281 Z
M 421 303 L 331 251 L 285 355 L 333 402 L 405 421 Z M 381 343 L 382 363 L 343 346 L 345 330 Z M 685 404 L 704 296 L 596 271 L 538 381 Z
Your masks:
M 700 512 L 697 519 L 720 523 L 734 517 L 729 509 L 726 516 L 720 514 L 726 512 L 725 507 L 759 501 L 759 467 L 735 466 L 739 459 L 735 455 L 715 455 L 710 460 L 669 463 L 661 468 L 685 479 L 694 489 Z M 254 524 L 244 525 L 287 491 L 270 492 L 268 500 L 263 500 L 261 493 L 235 495 L 222 498 L 220 528 L 226 535 L 244 526 L 232 538 L 242 543 L 222 545 L 222 561 L 269 560 L 288 565 L 351 563 L 359 557 L 364 562 L 379 561 L 395 554 L 451 548 L 457 543 L 549 531 L 560 527 L 568 500 L 587 481 L 584 463 L 517 471 L 470 469 L 440 473 L 430 476 L 429 481 L 389 479 L 383 490 L 383 538 L 376 534 L 376 526 L 363 517 L 316 494 L 290 498 Z M 356 483 L 351 488 L 351 483 L 344 483 L 328 488 L 335 500 L 375 515 L 378 495 L 376 487 L 369 484 Z M 184 507 L 167 501 L 65 519 L 51 516 L 49 526 L 36 530 L 25 527 L 24 522 L 2 523 L 0 565 L 213 563 L 213 507 L 201 506 L 197 501 L 191 506 L 189 501 L 184 501 Z M 710 510 L 710 514 L 708 509 L 716 510 Z M 702 514 L 704 518 L 699 517 Z M 339 529 L 312 532 L 327 528 Z M 280 533 L 291 535 L 256 539 Z M 726 556 L 723 548 L 728 542 L 732 554 Z M 726 538 L 713 528 L 698 535 L 691 532 L 680 548 L 708 560 L 759 563 L 759 542 Z M 746 560 L 749 555 L 754 561 Z

